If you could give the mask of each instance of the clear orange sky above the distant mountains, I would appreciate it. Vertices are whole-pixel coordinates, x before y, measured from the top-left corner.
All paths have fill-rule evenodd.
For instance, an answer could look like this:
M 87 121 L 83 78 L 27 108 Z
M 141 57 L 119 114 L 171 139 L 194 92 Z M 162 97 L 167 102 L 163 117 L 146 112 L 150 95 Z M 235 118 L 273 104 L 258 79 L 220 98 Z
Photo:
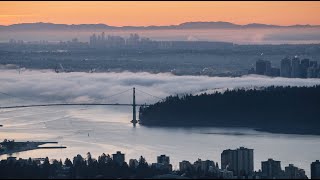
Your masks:
M 150 26 L 227 21 L 319 25 L 319 9 L 319 1 L 1 1 L 0 24 L 51 22 Z

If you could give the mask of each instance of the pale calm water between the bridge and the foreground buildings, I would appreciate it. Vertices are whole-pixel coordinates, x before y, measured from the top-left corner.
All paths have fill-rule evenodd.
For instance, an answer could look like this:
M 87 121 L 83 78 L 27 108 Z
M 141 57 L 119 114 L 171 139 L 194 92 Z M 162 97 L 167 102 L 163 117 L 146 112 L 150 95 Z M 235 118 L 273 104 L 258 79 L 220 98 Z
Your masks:
M 140 155 L 148 162 L 166 154 L 174 168 L 179 161 L 194 162 L 197 158 L 211 159 L 220 165 L 224 149 L 245 146 L 254 149 L 254 166 L 261 168 L 267 158 L 281 160 L 282 168 L 293 163 L 310 175 L 310 163 L 319 159 L 320 136 L 282 135 L 250 129 L 228 128 L 148 128 L 129 122 L 132 114 L 127 107 L 42 107 L 2 111 L 1 138 L 16 141 L 58 141 L 67 149 L 41 149 L 13 156 L 55 159 L 94 157 L 120 150 L 130 158 Z M 7 119 L 6 119 L 7 118 Z M 89 136 L 88 136 L 89 134 Z M 6 155 L 1 158 L 6 158 Z

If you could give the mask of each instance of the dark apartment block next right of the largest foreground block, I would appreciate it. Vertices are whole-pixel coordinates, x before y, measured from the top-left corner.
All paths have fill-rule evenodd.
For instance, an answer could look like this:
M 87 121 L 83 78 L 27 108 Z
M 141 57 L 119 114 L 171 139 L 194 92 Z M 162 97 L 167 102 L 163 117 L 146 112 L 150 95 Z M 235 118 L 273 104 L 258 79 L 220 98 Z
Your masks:
M 261 162 L 262 178 L 274 179 L 282 176 L 281 162 L 273 159 Z

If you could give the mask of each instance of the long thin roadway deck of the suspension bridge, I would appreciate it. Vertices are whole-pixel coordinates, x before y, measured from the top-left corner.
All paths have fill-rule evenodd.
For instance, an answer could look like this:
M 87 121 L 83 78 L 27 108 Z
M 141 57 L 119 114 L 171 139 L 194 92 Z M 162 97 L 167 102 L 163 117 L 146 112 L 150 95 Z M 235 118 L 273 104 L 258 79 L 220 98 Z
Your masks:
M 32 104 L 19 106 L 3 106 L 0 109 L 25 108 L 25 107 L 46 107 L 46 106 L 133 106 L 133 104 L 119 103 L 59 103 L 59 104 Z M 135 104 L 135 106 L 148 106 L 147 104 Z

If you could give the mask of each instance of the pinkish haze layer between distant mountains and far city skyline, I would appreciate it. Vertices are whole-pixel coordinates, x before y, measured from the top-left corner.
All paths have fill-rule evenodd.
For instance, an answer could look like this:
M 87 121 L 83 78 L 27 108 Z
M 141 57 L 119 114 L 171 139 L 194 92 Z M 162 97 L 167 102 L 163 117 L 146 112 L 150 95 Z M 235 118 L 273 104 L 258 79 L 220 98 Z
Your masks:
M 156 41 L 221 41 L 236 44 L 312 44 L 320 42 L 319 28 L 249 28 L 249 29 L 189 29 L 189 30 L 37 30 L 1 31 L 0 42 L 10 39 L 24 41 L 68 41 L 78 38 L 88 42 L 93 33 L 128 37 L 138 33 Z

